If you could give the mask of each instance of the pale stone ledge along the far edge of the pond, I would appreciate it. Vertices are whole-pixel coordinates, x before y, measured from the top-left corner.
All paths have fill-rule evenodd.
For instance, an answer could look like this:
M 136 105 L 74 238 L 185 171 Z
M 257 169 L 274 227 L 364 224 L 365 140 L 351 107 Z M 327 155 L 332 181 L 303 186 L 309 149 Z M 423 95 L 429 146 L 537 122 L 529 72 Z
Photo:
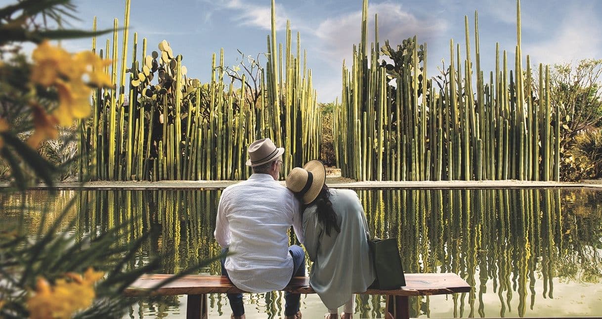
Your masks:
M 223 189 L 229 185 L 236 184 L 238 181 L 99 181 L 99 182 L 57 182 L 55 188 L 58 190 L 161 190 L 161 189 Z M 281 181 L 284 184 L 284 181 Z M 393 181 L 365 181 L 358 182 L 346 178 L 329 177 L 326 184 L 332 188 L 350 188 L 350 189 L 483 189 L 483 188 L 595 188 L 602 190 L 602 181 L 586 181 L 581 183 L 573 182 L 539 182 L 539 181 L 420 181 L 420 182 L 393 182 Z M 0 183 L 0 188 L 8 187 L 7 182 Z M 39 184 L 31 187 L 33 190 L 48 189 L 45 184 Z

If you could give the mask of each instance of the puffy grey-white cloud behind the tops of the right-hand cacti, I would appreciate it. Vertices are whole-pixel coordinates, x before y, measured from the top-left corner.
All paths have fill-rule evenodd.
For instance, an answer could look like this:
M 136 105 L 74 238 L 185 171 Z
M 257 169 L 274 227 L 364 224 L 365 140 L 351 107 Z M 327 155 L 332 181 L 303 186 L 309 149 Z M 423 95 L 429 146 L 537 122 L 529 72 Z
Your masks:
M 404 39 L 418 36 L 418 41 L 429 42 L 447 29 L 447 23 L 434 17 L 417 17 L 403 10 L 402 5 L 383 2 L 368 6 L 368 41 L 374 40 L 374 14 L 378 14 L 379 43 L 382 46 L 389 40 L 396 46 Z M 341 64 L 343 58 L 350 64 L 354 43 L 359 43 L 361 31 L 361 10 L 324 20 L 315 30 L 321 40 L 321 54 L 332 64 Z M 368 50 L 370 44 L 368 43 Z M 315 58 L 315 57 L 314 57 Z

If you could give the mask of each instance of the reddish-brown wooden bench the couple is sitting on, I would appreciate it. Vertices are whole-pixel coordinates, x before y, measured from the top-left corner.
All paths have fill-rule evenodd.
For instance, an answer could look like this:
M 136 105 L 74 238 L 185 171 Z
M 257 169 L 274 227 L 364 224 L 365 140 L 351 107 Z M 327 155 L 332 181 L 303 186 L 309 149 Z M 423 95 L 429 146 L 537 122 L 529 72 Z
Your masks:
M 144 274 L 125 290 L 126 296 L 144 296 L 145 291 L 171 274 Z M 470 285 L 453 273 L 405 274 L 406 286 L 396 290 L 369 289 L 361 294 L 386 295 L 385 318 L 409 318 L 409 296 L 468 293 Z M 308 277 L 294 277 L 284 291 L 298 294 L 315 294 Z M 188 295 L 186 318 L 206 319 L 207 294 L 245 293 L 236 288 L 225 276 L 188 275 L 155 290 L 152 296 Z

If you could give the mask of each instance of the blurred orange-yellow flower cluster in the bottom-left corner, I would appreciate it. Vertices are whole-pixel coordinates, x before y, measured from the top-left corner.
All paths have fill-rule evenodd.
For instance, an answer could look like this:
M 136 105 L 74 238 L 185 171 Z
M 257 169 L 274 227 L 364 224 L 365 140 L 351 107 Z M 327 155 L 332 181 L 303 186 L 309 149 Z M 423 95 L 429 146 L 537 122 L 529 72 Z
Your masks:
M 102 275 L 88 268 L 84 276 L 65 274 L 71 280 L 57 279 L 54 286 L 38 278 L 36 291 L 27 300 L 29 316 L 33 319 L 70 318 L 75 312 L 90 307 L 96 297 L 94 283 Z

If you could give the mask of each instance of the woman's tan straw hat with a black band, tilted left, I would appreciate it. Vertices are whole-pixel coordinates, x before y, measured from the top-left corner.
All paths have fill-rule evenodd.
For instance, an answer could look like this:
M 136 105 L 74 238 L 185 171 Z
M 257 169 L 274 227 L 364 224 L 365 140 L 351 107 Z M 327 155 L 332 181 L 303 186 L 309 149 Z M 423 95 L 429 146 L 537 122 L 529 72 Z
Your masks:
M 308 204 L 318 197 L 326 182 L 326 169 L 317 159 L 312 159 L 303 168 L 295 167 L 288 173 L 287 188 L 301 196 L 303 203 Z

